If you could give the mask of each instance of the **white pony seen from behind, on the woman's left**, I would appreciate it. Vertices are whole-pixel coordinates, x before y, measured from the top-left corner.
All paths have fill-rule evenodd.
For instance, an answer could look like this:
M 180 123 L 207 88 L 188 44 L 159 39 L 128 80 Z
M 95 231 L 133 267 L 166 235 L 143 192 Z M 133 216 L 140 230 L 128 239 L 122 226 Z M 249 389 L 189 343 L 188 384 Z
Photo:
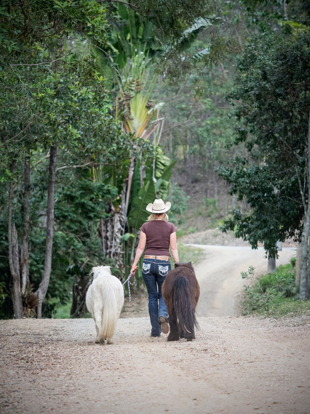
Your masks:
M 86 306 L 95 320 L 96 343 L 113 344 L 113 334 L 124 305 L 122 282 L 111 274 L 110 266 L 93 267 L 93 282 L 86 293 Z

